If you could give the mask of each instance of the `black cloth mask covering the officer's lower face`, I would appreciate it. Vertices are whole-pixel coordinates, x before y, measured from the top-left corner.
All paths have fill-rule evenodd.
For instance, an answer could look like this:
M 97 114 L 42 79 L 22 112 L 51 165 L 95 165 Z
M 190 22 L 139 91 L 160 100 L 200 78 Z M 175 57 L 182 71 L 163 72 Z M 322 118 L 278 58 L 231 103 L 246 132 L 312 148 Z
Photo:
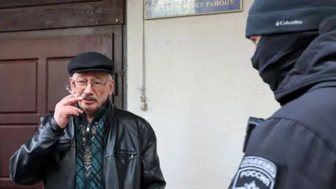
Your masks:
M 275 91 L 318 31 L 262 36 L 253 57 L 253 68 Z

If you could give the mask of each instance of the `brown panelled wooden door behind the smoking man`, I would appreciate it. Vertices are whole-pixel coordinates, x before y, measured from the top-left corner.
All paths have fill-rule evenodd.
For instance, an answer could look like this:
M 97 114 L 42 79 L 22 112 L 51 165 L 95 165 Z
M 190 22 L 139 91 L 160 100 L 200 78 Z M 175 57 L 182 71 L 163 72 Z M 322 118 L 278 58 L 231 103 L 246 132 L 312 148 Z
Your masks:
M 122 27 L 111 26 L 101 30 L 100 33 L 85 34 L 94 29 L 65 29 L 63 36 L 52 36 L 62 34 L 60 30 L 51 34 L 46 34 L 47 31 L 34 31 L 22 33 L 25 37 L 21 38 L 20 34 L 10 34 L 17 39 L 10 39 L 6 34 L 0 38 L 1 189 L 22 187 L 16 186 L 8 178 L 9 158 L 31 139 L 40 118 L 45 113 L 54 111 L 55 104 L 69 94 L 64 85 L 69 80 L 66 64 L 71 57 L 87 51 L 102 52 L 116 62 L 117 72 L 122 71 Z M 123 108 L 123 78 L 120 74 L 116 77 L 118 90 L 113 96 L 113 102 Z

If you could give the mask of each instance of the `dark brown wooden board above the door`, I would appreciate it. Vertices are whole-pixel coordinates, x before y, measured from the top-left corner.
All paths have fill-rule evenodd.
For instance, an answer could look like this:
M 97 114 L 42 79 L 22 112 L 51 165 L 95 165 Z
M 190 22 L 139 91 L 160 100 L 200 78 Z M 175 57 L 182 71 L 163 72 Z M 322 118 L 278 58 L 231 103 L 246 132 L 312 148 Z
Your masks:
M 1 0 L 0 31 L 124 23 L 123 0 Z

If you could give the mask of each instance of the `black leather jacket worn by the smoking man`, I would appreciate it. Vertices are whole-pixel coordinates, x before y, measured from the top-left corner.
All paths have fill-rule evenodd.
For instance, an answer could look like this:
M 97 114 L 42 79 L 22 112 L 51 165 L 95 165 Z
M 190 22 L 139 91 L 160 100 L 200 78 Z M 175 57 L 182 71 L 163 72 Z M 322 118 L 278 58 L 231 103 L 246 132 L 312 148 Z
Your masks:
M 106 116 L 106 189 L 165 188 L 153 128 L 143 118 L 111 104 Z M 10 158 L 10 179 L 20 185 L 43 181 L 45 189 L 72 189 L 76 143 L 73 119 L 62 130 L 46 116 L 34 137 Z

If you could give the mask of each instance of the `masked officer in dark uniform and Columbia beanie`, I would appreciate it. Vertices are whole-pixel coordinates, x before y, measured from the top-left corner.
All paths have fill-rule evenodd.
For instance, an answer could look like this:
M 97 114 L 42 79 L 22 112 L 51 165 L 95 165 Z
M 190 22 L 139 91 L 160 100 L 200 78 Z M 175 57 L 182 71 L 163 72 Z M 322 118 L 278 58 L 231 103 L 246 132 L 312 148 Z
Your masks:
M 229 188 L 336 188 L 336 1 L 255 0 L 246 37 L 281 108 L 247 135 Z

